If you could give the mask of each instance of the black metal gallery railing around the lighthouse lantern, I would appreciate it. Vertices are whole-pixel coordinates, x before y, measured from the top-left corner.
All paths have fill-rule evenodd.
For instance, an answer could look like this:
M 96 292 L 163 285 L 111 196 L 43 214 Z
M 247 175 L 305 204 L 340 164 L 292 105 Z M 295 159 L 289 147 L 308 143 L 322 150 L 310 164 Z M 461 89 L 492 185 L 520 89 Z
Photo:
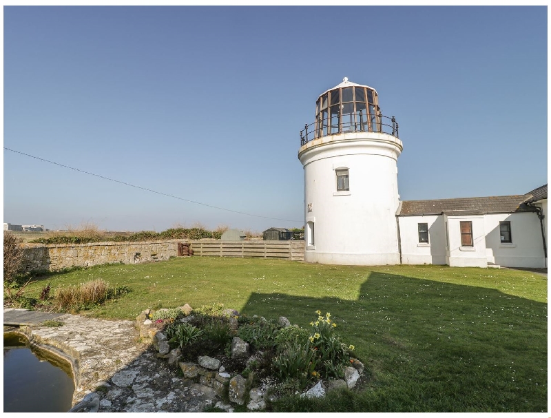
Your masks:
M 354 114 L 343 116 L 352 116 L 353 118 Z M 398 138 L 398 123 L 394 116 L 388 117 L 377 114 L 377 116 L 366 118 L 366 121 L 363 121 L 360 115 L 360 122 L 344 122 L 342 119 L 342 115 L 338 114 L 329 118 L 318 118 L 310 125 L 305 124 L 304 129 L 300 131 L 300 145 L 302 146 L 322 136 L 344 134 L 346 132 L 380 132 Z

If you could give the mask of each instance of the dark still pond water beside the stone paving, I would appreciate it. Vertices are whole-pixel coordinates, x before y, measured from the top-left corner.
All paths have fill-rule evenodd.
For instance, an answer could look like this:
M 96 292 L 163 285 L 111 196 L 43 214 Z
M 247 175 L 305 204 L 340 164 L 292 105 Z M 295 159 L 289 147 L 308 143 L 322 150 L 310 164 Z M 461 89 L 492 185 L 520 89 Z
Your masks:
M 67 362 L 30 349 L 25 337 L 4 333 L 3 412 L 67 412 L 74 383 Z

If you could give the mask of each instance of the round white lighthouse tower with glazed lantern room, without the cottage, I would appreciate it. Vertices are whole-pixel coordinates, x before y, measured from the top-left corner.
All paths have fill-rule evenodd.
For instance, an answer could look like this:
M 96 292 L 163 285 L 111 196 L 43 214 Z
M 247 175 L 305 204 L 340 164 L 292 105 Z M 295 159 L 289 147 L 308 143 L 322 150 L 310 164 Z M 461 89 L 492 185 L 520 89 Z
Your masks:
M 320 95 L 300 132 L 306 262 L 399 264 L 395 118 L 373 87 L 342 83 Z

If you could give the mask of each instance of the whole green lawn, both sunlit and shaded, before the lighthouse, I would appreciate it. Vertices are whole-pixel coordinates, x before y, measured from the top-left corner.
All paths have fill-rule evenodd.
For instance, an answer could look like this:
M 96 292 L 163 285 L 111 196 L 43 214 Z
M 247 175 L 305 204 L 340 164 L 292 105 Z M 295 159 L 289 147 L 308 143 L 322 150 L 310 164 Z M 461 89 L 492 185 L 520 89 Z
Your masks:
M 536 273 L 191 257 L 50 275 L 25 295 L 97 278 L 131 289 L 87 311 L 97 317 L 133 320 L 146 308 L 221 302 L 309 328 L 316 310 L 330 312 L 368 382 L 359 393 L 287 399 L 274 410 L 548 410 L 547 278 Z

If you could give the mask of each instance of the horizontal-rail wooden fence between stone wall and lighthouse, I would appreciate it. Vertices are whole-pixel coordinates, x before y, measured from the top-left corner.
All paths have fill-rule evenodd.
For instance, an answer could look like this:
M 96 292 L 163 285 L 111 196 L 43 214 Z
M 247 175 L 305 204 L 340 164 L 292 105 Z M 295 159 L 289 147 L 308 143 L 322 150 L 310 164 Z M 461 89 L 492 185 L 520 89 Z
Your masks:
M 195 255 L 304 260 L 304 241 L 191 241 Z

